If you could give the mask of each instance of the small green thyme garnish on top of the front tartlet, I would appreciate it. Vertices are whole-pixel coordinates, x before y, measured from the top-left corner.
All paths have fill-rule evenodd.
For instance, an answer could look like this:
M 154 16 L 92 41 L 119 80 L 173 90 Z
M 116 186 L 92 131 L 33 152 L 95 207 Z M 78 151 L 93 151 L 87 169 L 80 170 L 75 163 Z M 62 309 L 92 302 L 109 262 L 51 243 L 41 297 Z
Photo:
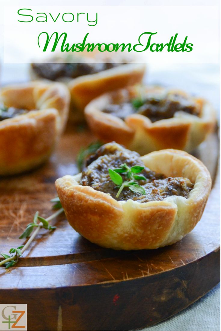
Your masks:
M 116 184 L 116 188 L 119 188 L 116 198 L 118 198 L 125 187 L 128 187 L 132 192 L 145 194 L 145 190 L 138 184 L 138 180 L 146 180 L 143 175 L 138 175 L 144 169 L 142 166 L 127 166 L 126 163 L 122 164 L 120 168 L 108 169 L 111 180 Z M 120 173 L 124 173 L 128 180 L 123 181 Z

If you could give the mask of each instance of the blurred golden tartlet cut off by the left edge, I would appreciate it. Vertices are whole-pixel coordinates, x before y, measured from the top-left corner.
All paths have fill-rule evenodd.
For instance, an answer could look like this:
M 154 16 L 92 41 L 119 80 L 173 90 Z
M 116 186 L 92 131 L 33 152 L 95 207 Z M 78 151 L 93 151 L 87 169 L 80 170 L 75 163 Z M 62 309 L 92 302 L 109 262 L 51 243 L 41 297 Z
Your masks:
M 0 175 L 30 170 L 53 151 L 68 117 L 60 83 L 33 82 L 0 90 Z

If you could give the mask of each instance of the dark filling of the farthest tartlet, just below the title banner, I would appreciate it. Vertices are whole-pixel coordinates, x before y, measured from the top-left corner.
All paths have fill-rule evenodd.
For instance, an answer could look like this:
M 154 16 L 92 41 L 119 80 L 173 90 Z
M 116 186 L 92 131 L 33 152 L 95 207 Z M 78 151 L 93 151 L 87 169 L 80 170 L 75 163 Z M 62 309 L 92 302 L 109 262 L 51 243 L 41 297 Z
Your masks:
M 123 64 L 123 63 L 121 63 Z M 57 80 L 76 78 L 118 67 L 120 63 L 32 63 L 33 71 L 40 77 Z

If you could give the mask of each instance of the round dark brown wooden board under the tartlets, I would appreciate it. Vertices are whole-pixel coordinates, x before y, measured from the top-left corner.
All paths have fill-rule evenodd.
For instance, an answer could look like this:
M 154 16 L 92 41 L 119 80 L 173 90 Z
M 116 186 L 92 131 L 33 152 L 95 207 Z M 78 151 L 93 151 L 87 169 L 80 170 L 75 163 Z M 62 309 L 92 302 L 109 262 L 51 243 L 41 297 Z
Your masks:
M 77 173 L 81 146 L 94 141 L 69 127 L 50 162 L 0 180 L 0 251 L 18 239 L 36 211 L 51 213 L 54 181 Z M 201 221 L 182 241 L 157 250 L 104 249 L 76 233 L 62 214 L 57 229 L 41 230 L 16 267 L 0 268 L 0 303 L 28 304 L 28 330 L 130 330 L 177 313 L 219 282 L 218 139 L 194 153 L 208 167 L 213 188 Z

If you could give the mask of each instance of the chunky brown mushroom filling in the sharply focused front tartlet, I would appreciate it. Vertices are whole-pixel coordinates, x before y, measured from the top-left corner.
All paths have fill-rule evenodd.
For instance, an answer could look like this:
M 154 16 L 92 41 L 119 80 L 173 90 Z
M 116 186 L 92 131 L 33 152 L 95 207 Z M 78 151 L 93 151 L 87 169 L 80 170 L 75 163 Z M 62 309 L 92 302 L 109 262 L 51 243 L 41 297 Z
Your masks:
M 118 201 L 132 199 L 140 203 L 163 200 L 172 195 L 188 198 L 193 189 L 194 184 L 188 178 L 166 177 L 144 167 L 141 174 L 146 180 L 139 180 L 138 184 L 144 188 L 145 195 L 132 192 L 128 187 L 125 187 L 120 196 L 116 198 L 119 188 L 111 180 L 108 169 L 119 168 L 124 163 L 129 167 L 135 165 L 144 167 L 138 153 L 129 151 L 115 142 L 105 144 L 87 159 L 87 167 L 82 172 L 80 185 L 91 186 L 97 191 L 108 193 Z M 125 174 L 121 173 L 121 175 L 123 180 L 127 180 Z

